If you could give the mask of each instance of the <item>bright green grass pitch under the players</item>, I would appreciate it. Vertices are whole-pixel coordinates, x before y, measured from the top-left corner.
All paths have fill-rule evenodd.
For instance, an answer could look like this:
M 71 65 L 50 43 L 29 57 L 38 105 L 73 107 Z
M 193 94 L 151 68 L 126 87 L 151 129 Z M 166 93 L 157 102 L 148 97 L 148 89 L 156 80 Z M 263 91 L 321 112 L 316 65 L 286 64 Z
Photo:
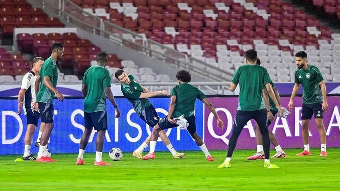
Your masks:
M 236 150 L 232 167 L 218 169 L 226 151 L 210 151 L 208 162 L 201 151 L 186 151 L 184 159 L 157 152 L 154 160 L 124 153 L 121 161 L 103 160 L 112 166 L 94 166 L 95 154 L 86 153 L 86 165 L 75 165 L 77 154 L 53 155 L 54 163 L 13 162 L 21 156 L 0 156 L 0 190 L 340 190 L 340 149 L 328 157 L 297 157 L 301 149 L 286 149 L 285 159 L 271 159 L 280 168 L 266 169 L 263 160 L 247 161 L 255 151 Z M 275 153 L 271 151 L 271 155 Z M 146 154 L 146 152 L 144 152 Z

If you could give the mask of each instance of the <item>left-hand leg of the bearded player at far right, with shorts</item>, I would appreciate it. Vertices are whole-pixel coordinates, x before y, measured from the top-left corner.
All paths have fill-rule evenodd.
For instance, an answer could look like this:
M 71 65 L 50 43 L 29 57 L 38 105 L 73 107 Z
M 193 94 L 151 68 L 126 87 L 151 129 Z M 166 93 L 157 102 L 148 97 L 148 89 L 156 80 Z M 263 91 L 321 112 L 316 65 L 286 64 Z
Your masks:
M 301 127 L 301 134 L 304 140 L 304 151 L 297 154 L 297 156 L 308 156 L 310 155 L 309 152 L 309 123 L 310 119 L 313 115 L 313 110 L 310 108 L 310 104 L 302 104 L 301 109 L 301 120 L 302 120 L 302 127 Z

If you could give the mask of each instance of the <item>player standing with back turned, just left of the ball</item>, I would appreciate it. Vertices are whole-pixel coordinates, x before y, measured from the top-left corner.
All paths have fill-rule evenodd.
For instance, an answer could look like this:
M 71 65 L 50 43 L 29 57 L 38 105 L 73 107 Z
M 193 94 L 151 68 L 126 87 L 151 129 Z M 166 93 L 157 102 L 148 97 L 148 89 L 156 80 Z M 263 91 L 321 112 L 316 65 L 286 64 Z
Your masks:
M 110 74 L 107 69 L 105 69 L 107 54 L 99 52 L 96 61 L 97 65 L 91 66 L 85 71 L 83 85 L 81 87 L 81 92 L 85 98 L 85 130 L 81 136 L 79 155 L 76 164 L 84 164 L 84 151 L 94 127 L 98 132 L 96 140 L 96 160 L 94 164 L 96 166 L 109 166 L 112 164 L 102 160 L 102 147 L 107 130 L 106 97 L 115 108 L 116 118 L 120 116 L 120 111 L 111 92 Z

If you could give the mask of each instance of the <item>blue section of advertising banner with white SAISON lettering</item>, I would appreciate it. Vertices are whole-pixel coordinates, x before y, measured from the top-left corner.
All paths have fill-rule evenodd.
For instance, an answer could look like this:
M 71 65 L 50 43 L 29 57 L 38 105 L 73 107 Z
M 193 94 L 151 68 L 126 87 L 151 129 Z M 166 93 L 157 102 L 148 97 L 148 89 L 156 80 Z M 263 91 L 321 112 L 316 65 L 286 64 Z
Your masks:
M 52 153 L 78 152 L 84 129 L 83 101 L 83 99 L 65 99 L 63 102 L 56 99 L 54 101 L 54 129 L 48 144 Z M 161 118 L 168 114 L 170 98 L 151 98 L 150 101 Z M 108 130 L 105 135 L 103 152 L 108 152 L 113 147 L 118 147 L 123 152 L 131 152 L 139 147 L 151 133 L 152 128 L 136 115 L 132 104 L 127 99 L 116 98 L 116 102 L 121 111 L 120 118 L 114 118 L 114 108 L 107 101 Z M 24 152 L 26 116 L 18 115 L 16 112 L 17 100 L 0 100 L 0 155 L 23 154 Z M 195 115 L 197 133 L 203 137 L 203 103 L 199 100 L 196 101 Z M 37 134 L 38 128 L 34 133 L 33 141 L 36 140 Z M 92 132 L 86 152 L 96 151 L 96 134 L 95 131 Z M 172 128 L 167 130 L 167 134 L 176 150 L 199 150 L 187 131 Z M 156 150 L 168 150 L 160 138 Z M 38 148 L 32 144 L 31 151 L 37 153 Z

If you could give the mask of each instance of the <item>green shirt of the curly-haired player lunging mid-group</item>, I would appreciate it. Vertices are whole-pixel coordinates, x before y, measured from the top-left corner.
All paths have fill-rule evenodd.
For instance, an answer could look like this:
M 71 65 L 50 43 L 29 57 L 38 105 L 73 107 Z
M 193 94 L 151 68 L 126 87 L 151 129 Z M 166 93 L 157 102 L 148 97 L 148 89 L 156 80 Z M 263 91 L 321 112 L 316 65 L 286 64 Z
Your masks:
M 201 90 L 188 83 L 181 83 L 173 87 L 171 96 L 176 96 L 172 117 L 184 115 L 185 118 L 194 115 L 196 98 L 201 101 L 206 98 Z

